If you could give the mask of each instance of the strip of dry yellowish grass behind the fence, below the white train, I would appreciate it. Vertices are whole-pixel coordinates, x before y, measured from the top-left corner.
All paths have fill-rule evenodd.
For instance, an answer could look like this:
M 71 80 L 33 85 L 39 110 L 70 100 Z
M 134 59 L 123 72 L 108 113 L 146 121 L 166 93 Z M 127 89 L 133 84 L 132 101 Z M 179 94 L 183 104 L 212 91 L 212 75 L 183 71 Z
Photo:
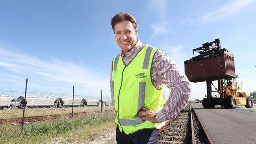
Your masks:
M 113 106 L 102 107 L 102 111 L 113 110 Z M 74 113 L 100 111 L 100 107 L 74 107 Z M 59 108 L 28 108 L 25 110 L 25 117 L 28 116 L 45 116 L 52 114 L 72 113 L 72 107 Z M 0 119 L 5 118 L 22 118 L 23 109 L 2 109 L 0 110 Z

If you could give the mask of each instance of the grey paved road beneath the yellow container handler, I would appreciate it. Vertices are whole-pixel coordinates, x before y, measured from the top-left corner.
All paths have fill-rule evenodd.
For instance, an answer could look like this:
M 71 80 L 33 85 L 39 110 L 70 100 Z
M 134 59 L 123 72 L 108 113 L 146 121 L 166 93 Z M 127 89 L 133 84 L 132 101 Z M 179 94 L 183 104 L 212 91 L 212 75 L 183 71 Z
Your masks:
M 214 144 L 256 144 L 256 105 L 252 109 L 204 109 L 202 103 L 192 103 Z

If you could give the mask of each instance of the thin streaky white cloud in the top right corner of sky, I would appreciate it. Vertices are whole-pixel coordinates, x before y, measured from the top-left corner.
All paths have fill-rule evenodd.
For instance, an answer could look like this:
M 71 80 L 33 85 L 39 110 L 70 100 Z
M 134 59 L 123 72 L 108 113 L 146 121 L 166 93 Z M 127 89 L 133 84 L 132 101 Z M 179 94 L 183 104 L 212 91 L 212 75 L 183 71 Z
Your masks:
M 201 17 L 196 18 L 195 20 L 191 20 L 190 25 L 202 25 L 217 20 L 221 17 L 226 17 L 244 9 L 245 7 L 250 6 L 250 4 L 252 4 L 253 2 L 254 0 L 232 1 L 231 3 L 226 4 L 219 9 L 216 9 L 215 11 L 204 13 L 204 15 L 202 15 Z

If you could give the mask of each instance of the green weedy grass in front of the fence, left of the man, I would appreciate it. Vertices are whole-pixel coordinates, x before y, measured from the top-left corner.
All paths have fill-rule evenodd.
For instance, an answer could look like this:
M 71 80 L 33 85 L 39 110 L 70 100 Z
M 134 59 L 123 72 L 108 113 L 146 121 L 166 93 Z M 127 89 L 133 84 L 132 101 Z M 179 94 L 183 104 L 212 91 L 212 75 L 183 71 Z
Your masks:
M 52 139 L 55 138 L 61 142 L 91 141 L 104 136 L 104 130 L 115 127 L 115 116 L 113 112 L 33 122 L 25 124 L 22 131 L 18 125 L 6 125 L 0 127 L 0 143 L 48 144 L 54 143 Z

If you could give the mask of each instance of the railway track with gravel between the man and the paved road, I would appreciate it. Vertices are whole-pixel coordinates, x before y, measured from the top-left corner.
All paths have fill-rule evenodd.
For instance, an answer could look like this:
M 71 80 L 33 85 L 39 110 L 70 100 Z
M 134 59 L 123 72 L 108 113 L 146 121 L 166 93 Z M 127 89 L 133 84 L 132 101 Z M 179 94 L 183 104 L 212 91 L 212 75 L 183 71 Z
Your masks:
M 190 104 L 160 129 L 158 144 L 213 144 Z

